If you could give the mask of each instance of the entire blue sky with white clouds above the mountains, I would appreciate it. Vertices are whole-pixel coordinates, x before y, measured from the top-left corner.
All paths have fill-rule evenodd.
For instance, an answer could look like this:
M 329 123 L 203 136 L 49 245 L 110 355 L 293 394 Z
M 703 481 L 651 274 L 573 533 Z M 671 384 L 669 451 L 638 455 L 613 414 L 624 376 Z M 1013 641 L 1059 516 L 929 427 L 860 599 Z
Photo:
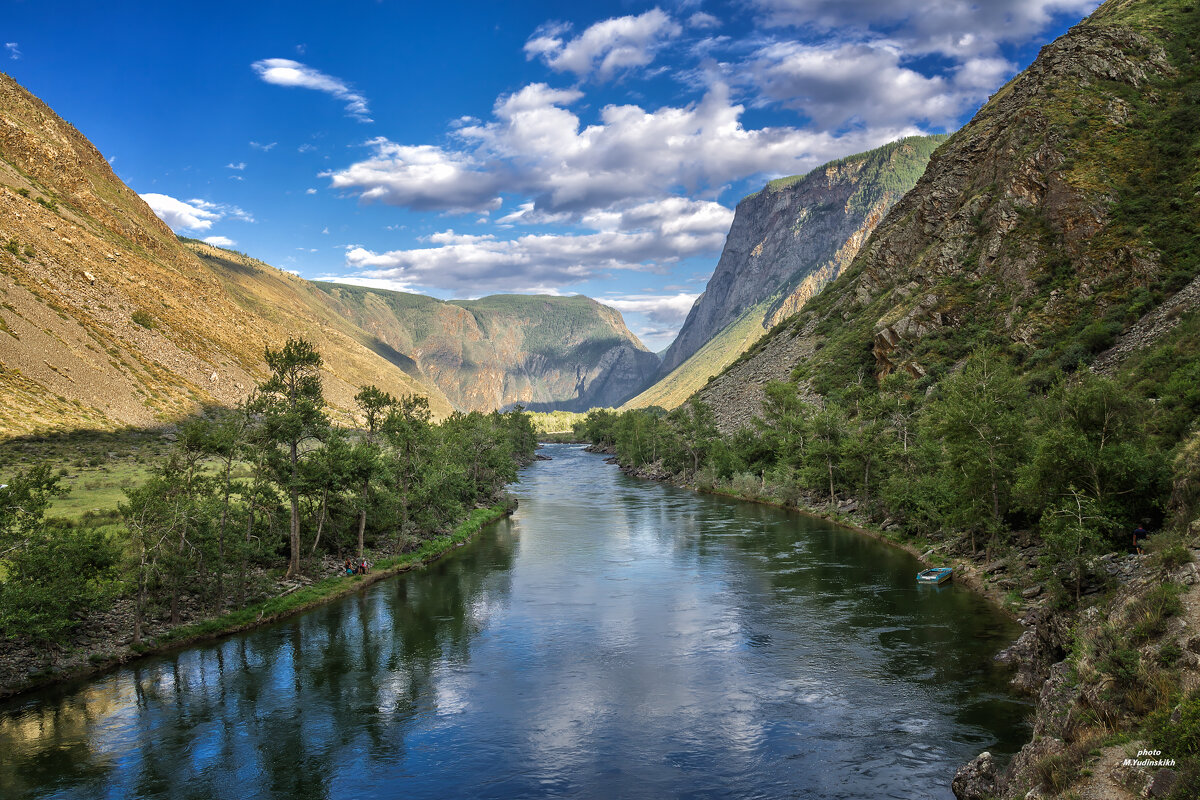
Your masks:
M 0 2 L 2 68 L 178 233 L 587 294 L 661 349 L 763 181 L 952 131 L 1097 0 Z

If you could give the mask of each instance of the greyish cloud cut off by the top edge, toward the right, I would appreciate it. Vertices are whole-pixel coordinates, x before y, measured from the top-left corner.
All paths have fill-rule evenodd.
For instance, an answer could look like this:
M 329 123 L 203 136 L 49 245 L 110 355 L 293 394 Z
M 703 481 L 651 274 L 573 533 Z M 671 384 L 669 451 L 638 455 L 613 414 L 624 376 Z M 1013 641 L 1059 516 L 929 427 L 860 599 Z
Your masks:
M 767 25 L 882 37 L 916 55 L 991 54 L 1024 42 L 1055 14 L 1091 13 L 1100 0 L 754 0 Z

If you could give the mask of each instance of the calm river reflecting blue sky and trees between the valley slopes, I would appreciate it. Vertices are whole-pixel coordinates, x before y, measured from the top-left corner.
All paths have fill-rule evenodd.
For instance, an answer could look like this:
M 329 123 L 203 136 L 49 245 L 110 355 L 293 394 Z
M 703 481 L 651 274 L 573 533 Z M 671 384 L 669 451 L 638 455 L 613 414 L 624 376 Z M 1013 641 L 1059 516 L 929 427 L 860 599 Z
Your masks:
M 906 553 L 544 452 L 424 570 L 0 705 L 0 798 L 952 798 L 1028 736 Z

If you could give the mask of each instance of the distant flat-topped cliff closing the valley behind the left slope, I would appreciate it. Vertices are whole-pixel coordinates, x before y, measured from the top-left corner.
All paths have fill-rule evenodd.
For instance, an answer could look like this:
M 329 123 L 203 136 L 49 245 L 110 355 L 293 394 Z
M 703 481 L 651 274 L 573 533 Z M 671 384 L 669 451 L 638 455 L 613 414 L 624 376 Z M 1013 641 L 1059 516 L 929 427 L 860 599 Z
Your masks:
M 458 408 L 619 405 L 658 368 L 620 313 L 583 296 L 493 295 L 442 302 L 319 284 L 336 313 L 412 359 Z

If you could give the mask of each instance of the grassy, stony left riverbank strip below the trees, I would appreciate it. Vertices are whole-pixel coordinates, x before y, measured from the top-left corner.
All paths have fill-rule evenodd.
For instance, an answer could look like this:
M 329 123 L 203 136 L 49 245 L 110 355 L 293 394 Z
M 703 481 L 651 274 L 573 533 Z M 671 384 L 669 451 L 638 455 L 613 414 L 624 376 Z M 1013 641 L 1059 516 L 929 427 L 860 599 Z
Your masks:
M 142 644 L 131 643 L 131 637 L 127 634 L 131 627 L 119 631 L 110 622 L 102 624 L 101 627 L 107 634 L 92 639 L 90 646 L 77 646 L 72 651 L 54 654 L 48 666 L 42 654 L 43 657 L 40 660 L 42 666 L 30 668 L 29 654 L 20 654 L 16 645 L 6 643 L 5 650 L 0 651 L 0 698 L 86 678 L 137 658 L 161 655 L 302 614 L 338 597 L 361 591 L 385 578 L 436 561 L 450 551 L 466 545 L 486 525 L 510 516 L 515 510 L 516 500 L 512 498 L 488 507 L 475 509 L 454 530 L 426 540 L 418 549 L 377 560 L 367 575 L 334 575 L 316 581 L 278 583 L 277 587 L 282 590 L 274 596 L 220 616 L 164 628 L 156 636 L 143 639 Z M 120 619 L 126 615 L 121 609 L 116 609 L 106 616 Z

